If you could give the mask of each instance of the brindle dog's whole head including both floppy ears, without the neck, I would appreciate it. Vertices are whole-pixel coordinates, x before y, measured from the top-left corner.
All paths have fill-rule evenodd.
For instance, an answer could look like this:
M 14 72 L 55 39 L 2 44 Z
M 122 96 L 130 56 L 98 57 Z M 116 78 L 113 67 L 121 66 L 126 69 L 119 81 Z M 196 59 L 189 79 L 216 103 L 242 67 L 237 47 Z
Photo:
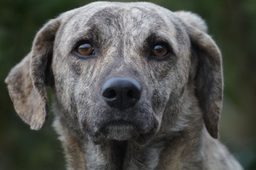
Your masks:
M 37 33 L 32 52 L 7 77 L 14 107 L 32 129 L 41 128 L 49 85 L 69 129 L 96 143 L 144 143 L 169 110 L 176 116 L 165 121 L 173 126 L 193 83 L 205 125 L 217 137 L 221 58 L 204 31 L 198 16 L 151 3 L 99 2 L 63 13 Z

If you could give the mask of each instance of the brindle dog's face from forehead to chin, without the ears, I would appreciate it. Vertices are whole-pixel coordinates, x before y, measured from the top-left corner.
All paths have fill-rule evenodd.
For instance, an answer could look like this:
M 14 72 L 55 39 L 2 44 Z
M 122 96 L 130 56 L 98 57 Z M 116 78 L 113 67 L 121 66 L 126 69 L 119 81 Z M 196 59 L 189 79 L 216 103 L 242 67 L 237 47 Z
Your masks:
M 169 95 L 182 94 L 186 84 L 188 36 L 155 9 L 134 5 L 88 8 L 56 35 L 52 68 L 57 99 L 93 140 L 147 139 L 159 129 Z M 83 44 L 91 45 L 94 52 L 79 54 Z M 154 55 L 156 46 L 166 54 Z M 133 82 L 139 90 L 133 89 Z M 117 93 L 110 98 L 118 99 L 104 96 L 108 83 L 117 84 L 110 87 Z M 130 98 L 126 96 L 129 90 Z M 133 100 L 135 104 L 127 104 Z

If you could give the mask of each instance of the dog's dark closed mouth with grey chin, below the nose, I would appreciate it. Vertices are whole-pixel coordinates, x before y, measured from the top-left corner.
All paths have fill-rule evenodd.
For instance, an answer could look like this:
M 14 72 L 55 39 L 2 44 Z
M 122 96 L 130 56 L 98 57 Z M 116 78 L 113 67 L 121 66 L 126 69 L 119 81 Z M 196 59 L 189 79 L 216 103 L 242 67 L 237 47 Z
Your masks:
M 124 111 L 102 109 L 81 119 L 82 129 L 95 144 L 109 140 L 147 143 L 159 129 L 159 122 L 150 108 L 132 108 Z

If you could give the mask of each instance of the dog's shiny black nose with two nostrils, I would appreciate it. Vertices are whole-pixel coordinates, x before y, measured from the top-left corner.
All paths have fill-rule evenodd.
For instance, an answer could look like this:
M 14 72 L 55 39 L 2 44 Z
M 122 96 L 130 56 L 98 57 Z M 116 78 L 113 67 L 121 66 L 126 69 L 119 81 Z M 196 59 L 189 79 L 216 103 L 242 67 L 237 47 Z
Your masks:
M 141 87 L 132 78 L 113 77 L 102 86 L 102 96 L 105 102 L 120 110 L 133 107 L 139 101 L 140 94 Z

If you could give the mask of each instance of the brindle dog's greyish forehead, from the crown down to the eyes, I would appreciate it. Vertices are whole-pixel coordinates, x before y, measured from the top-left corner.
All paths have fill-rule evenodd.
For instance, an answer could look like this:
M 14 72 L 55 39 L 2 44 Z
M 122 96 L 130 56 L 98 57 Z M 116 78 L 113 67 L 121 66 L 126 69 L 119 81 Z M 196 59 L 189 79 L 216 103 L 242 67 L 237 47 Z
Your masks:
M 180 23 L 175 14 L 152 3 L 96 2 L 63 13 L 61 20 L 55 42 L 58 48 L 61 44 L 63 54 L 79 39 L 91 39 L 88 37 L 107 39 L 114 46 L 120 40 L 135 45 L 160 33 L 174 42 L 174 50 L 179 46 L 176 34 Z

